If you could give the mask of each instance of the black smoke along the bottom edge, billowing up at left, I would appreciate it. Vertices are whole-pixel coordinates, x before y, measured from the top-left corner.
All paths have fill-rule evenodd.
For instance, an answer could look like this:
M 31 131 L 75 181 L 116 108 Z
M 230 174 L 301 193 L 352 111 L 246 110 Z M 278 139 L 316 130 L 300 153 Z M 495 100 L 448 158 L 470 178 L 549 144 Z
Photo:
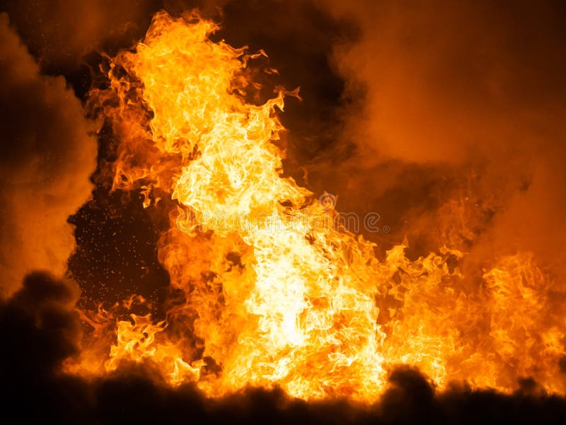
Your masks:
M 193 385 L 171 388 L 151 365 L 124 365 L 93 381 L 61 372 L 79 353 L 79 289 L 40 272 L 0 301 L 1 413 L 18 423 L 54 424 L 563 424 L 566 399 L 524 380 L 513 395 L 465 386 L 435 392 L 418 371 L 398 368 L 381 401 L 304 402 L 250 388 L 208 400 Z

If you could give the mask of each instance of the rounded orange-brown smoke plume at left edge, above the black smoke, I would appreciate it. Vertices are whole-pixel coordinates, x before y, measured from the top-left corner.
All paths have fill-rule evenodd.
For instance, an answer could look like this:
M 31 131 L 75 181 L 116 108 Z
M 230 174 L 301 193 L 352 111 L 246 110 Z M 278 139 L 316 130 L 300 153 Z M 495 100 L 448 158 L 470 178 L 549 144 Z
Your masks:
M 64 274 L 74 249 L 67 219 L 91 193 L 93 125 L 62 77 L 42 76 L 0 15 L 0 274 L 11 293 L 34 269 Z

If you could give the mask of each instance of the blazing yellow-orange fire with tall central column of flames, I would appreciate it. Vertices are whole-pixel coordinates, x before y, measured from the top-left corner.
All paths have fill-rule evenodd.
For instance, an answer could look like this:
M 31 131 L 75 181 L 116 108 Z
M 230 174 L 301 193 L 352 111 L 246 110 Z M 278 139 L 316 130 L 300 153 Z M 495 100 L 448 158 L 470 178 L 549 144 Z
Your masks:
M 260 103 L 248 64 L 265 53 L 214 42 L 216 30 L 195 12 L 158 13 L 135 50 L 110 58 L 110 88 L 92 93 L 120 140 L 115 188 L 171 205 L 158 246 L 171 300 L 164 320 L 87 314 L 95 332 L 69 369 L 151 361 L 212 397 L 277 385 L 372 402 L 408 363 L 440 388 L 512 390 L 533 376 L 564 392 L 565 319 L 545 308 L 553 281 L 531 258 L 503 257 L 479 288 L 455 248 L 409 260 L 403 244 L 379 261 L 373 243 L 333 226 L 332 203 L 284 176 L 277 115 L 298 93 Z

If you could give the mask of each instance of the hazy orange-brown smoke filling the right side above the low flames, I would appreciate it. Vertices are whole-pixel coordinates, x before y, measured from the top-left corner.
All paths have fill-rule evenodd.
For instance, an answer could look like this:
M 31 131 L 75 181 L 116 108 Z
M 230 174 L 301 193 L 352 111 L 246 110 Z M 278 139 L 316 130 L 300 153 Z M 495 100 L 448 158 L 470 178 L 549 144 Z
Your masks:
M 532 251 L 557 274 L 564 210 L 566 9 L 558 1 L 322 1 L 359 24 L 333 59 L 346 93 L 348 161 L 328 182 L 347 211 L 379 211 L 387 247 L 409 237 L 481 262 Z M 332 157 L 334 153 L 328 156 Z M 563 277 L 563 275 L 562 275 Z

